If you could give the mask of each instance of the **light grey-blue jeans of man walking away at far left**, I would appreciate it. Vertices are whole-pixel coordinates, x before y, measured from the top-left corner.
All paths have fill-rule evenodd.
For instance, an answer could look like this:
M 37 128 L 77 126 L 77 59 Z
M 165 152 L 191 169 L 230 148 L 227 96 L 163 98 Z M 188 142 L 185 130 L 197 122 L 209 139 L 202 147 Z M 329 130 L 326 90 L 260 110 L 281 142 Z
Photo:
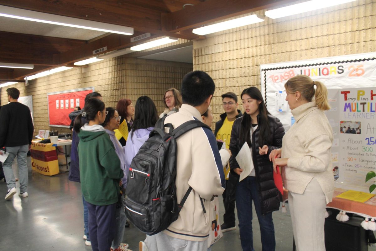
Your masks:
M 20 175 L 20 193 L 27 192 L 27 184 L 29 183 L 29 176 L 27 172 L 27 152 L 29 151 L 29 145 L 23 146 L 8 146 L 6 152 L 9 153 L 8 158 L 3 163 L 4 176 L 8 191 L 13 187 L 16 187 L 16 179 L 14 177 L 12 164 L 17 156 L 18 173 Z

